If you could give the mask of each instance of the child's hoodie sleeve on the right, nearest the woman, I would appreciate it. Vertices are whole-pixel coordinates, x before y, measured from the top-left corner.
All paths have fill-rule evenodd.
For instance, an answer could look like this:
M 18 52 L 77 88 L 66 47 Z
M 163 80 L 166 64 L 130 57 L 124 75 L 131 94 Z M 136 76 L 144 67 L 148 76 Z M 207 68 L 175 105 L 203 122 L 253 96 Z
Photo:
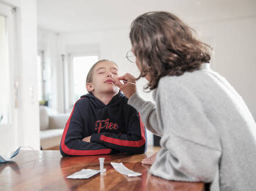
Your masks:
M 142 154 L 146 151 L 146 129 L 141 121 L 140 114 L 132 108 L 126 133 L 117 135 L 115 133 L 94 133 L 91 142 L 100 143 L 113 150 L 129 153 Z

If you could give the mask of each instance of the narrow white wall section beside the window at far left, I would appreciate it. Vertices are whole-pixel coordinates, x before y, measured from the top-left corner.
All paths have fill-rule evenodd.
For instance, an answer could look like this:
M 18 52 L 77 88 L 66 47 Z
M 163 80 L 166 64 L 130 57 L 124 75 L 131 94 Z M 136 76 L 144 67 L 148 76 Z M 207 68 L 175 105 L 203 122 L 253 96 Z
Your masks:
M 37 101 L 37 14 L 36 1 L 20 0 L 17 9 L 19 105 L 18 145 L 40 148 Z

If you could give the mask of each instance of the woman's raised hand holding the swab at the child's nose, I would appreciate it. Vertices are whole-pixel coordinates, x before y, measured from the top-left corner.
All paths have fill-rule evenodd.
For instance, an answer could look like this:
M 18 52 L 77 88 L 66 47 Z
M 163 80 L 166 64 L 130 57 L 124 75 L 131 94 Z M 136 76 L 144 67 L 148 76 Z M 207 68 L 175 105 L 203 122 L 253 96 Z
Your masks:
M 130 98 L 136 92 L 136 85 L 127 83 L 127 82 L 136 83 L 136 78 L 130 75 L 130 73 L 126 73 L 125 75 L 117 78 L 113 77 L 113 79 L 115 80 L 115 85 L 120 88 L 120 90 L 123 92 L 123 94 L 127 98 Z M 123 82 L 122 84 L 119 80 L 125 80 L 127 82 Z

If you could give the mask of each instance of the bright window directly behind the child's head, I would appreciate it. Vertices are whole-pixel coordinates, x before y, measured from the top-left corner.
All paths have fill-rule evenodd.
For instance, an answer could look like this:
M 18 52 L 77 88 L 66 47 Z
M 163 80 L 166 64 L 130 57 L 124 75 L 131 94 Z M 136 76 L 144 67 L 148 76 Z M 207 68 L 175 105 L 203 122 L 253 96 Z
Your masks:
M 85 87 L 87 73 L 98 60 L 98 56 L 73 57 L 74 101 L 77 101 L 81 95 L 88 93 Z

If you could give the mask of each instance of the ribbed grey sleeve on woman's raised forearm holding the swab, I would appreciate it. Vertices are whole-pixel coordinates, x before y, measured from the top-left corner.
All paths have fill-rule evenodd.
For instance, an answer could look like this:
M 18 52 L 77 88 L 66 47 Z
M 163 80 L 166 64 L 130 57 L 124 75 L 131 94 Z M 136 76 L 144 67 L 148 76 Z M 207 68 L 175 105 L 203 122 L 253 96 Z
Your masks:
M 141 114 L 142 121 L 146 124 L 148 130 L 158 136 L 162 136 L 162 129 L 158 124 L 157 112 L 155 103 L 145 101 L 136 92 L 128 100 L 128 104 L 132 105 Z

